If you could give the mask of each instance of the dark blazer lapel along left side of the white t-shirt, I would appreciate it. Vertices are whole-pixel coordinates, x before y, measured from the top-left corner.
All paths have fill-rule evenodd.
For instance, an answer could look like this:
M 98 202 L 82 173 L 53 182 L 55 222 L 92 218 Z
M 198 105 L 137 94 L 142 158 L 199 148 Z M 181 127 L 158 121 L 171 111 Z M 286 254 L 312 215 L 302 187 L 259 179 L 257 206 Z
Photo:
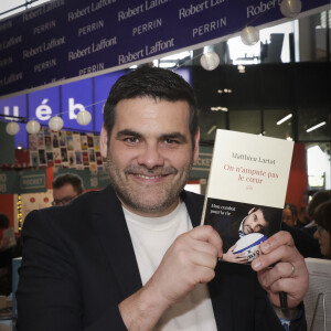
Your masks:
M 97 234 L 122 291 L 122 299 L 142 287 L 121 204 L 111 186 L 93 203 L 92 228 Z

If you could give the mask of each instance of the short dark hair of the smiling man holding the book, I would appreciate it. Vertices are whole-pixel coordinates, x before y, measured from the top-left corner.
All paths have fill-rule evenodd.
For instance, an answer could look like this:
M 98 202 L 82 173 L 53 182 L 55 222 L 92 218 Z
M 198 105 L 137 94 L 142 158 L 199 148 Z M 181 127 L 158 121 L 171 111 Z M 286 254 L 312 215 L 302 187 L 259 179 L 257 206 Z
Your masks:
M 188 102 L 190 107 L 190 134 L 194 148 L 194 135 L 197 130 L 197 106 L 193 88 L 180 75 L 170 70 L 141 66 L 121 76 L 113 85 L 104 107 L 104 127 L 110 139 L 115 124 L 116 105 L 122 99 L 150 97 L 168 102 Z

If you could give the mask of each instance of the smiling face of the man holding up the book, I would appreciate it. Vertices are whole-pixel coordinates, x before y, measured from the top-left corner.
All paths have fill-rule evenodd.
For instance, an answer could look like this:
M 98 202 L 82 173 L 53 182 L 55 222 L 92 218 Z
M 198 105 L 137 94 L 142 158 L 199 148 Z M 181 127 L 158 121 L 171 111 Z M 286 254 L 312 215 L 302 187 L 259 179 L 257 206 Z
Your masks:
M 121 203 L 143 216 L 170 213 L 197 160 L 185 102 L 152 98 L 120 100 L 108 145 L 102 131 L 102 154 L 107 157 L 110 182 Z M 108 147 L 108 148 L 107 148 Z

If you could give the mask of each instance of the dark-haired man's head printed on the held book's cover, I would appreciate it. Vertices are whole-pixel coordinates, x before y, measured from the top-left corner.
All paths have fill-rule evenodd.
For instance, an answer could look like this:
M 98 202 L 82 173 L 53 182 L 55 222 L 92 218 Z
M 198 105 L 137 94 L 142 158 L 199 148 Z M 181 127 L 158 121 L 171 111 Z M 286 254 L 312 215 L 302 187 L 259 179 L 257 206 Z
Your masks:
M 273 209 L 264 206 L 254 206 L 249 210 L 243 223 L 243 232 L 245 235 L 254 232 L 265 234 L 266 228 L 273 217 Z

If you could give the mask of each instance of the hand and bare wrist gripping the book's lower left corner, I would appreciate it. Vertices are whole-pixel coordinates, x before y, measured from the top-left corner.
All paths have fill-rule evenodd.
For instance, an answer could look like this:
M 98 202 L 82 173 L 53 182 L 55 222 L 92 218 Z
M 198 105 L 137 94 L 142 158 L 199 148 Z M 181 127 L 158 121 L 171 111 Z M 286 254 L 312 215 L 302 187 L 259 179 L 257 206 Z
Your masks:
M 213 227 L 203 225 L 180 235 L 143 288 L 120 302 L 128 330 L 151 330 L 167 308 L 215 277 L 217 257 L 222 239 Z

